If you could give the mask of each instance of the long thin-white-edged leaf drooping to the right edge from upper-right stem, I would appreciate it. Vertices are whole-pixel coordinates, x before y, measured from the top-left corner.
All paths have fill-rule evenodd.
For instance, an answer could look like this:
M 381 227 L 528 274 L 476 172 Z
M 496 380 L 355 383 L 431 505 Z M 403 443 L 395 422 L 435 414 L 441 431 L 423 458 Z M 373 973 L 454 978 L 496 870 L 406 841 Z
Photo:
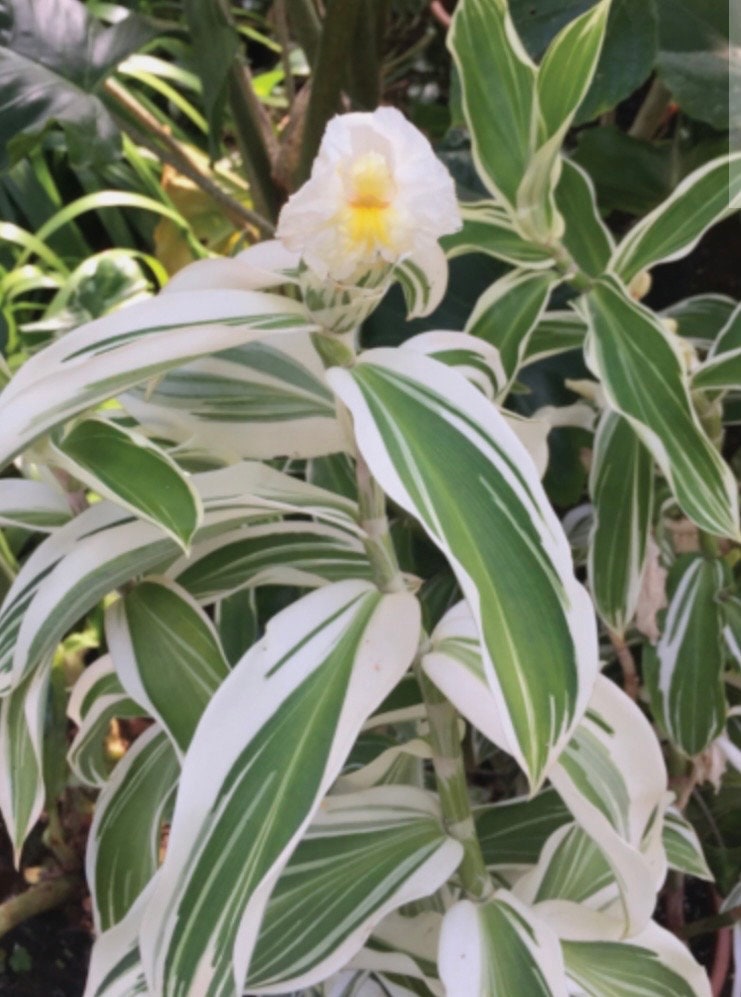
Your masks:
M 736 482 L 700 425 L 670 334 L 612 280 L 583 301 L 587 361 L 610 405 L 651 451 L 687 516 L 710 533 L 741 536 Z

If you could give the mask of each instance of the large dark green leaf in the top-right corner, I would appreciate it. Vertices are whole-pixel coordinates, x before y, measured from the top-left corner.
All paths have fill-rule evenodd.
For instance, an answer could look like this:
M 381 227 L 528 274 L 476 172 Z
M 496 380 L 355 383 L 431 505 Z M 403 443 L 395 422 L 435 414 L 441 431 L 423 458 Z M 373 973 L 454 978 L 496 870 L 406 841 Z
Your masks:
M 657 0 L 658 72 L 682 110 L 719 131 L 741 124 L 741 60 L 732 4 Z M 730 22 L 730 23 L 729 23 Z

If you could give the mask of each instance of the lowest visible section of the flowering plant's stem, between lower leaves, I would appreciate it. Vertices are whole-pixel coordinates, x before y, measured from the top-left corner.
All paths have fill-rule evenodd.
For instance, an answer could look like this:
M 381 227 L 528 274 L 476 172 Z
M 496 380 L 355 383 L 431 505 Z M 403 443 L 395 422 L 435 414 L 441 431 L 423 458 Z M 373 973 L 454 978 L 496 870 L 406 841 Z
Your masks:
M 468 798 L 458 713 L 421 667 L 417 666 L 416 673 L 427 707 L 432 764 L 443 817 L 449 834 L 463 846 L 458 874 L 472 899 L 487 900 L 494 893 L 494 884 L 484 862 Z

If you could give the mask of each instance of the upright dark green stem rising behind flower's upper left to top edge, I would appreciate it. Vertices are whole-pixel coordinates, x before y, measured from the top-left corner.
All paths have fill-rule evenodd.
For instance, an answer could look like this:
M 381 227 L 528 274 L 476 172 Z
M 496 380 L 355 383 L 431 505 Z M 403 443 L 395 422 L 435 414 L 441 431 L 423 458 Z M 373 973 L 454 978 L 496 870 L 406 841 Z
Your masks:
M 306 110 L 298 186 L 308 178 L 327 122 L 339 107 L 343 70 L 348 63 L 360 9 L 360 0 L 328 0 Z

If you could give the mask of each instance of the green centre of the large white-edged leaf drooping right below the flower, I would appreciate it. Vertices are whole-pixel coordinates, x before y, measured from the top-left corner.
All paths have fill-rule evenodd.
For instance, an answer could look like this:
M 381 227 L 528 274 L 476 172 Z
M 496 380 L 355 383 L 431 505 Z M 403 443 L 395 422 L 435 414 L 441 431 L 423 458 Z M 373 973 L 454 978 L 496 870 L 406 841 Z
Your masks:
M 476 592 L 469 586 L 469 598 L 486 606 L 485 644 L 517 741 L 540 772 L 549 745 L 574 717 L 578 694 L 575 648 L 564 616 L 568 595 L 538 533 L 539 526 L 549 526 L 511 458 L 481 426 L 401 375 L 361 364 L 353 376 L 416 510 L 433 539 L 473 579 Z M 492 480 L 481 470 L 487 459 Z M 462 481 L 469 483 L 465 515 L 450 484 Z M 500 542 L 508 534 L 519 538 L 517 547 Z M 506 586 L 498 579 L 507 579 Z M 528 611 L 533 606 L 542 624 L 537 630 Z M 542 665 L 537 682 L 522 659 L 525 648 L 529 662 Z

